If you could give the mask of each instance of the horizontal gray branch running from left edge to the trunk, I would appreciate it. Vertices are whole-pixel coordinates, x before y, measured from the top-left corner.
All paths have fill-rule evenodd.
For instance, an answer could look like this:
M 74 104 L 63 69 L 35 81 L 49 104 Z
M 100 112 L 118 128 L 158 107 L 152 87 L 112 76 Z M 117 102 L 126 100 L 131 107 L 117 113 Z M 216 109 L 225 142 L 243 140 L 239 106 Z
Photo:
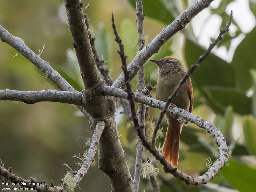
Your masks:
M 42 91 L 0 90 L 0 100 L 21 101 L 27 104 L 52 101 L 83 106 L 83 97 L 81 92 L 55 91 L 50 89 Z

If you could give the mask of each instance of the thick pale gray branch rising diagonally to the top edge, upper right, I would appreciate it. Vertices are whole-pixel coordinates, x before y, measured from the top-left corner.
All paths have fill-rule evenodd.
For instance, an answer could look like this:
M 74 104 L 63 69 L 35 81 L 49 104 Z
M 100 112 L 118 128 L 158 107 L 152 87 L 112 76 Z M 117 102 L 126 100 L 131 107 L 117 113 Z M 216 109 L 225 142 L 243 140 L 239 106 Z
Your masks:
M 156 52 L 159 51 L 161 46 L 170 39 L 179 30 L 185 26 L 195 17 L 199 12 L 208 7 L 213 0 L 198 0 L 193 3 L 188 9 L 183 11 L 170 25 L 163 28 L 162 31 L 141 51 L 137 52 L 134 59 L 127 66 L 130 79 L 134 78 L 141 66 Z M 116 79 L 112 87 L 119 88 L 124 85 L 124 73 Z

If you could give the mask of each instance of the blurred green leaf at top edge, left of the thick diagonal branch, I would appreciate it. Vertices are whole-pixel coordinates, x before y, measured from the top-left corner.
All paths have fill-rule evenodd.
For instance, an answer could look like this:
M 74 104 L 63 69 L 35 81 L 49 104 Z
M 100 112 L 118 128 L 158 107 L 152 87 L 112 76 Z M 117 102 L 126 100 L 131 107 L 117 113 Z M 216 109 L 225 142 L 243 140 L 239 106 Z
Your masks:
M 135 0 L 128 0 L 128 2 L 136 9 Z M 143 13 L 165 24 L 170 24 L 174 20 L 172 14 L 160 0 L 143 1 Z

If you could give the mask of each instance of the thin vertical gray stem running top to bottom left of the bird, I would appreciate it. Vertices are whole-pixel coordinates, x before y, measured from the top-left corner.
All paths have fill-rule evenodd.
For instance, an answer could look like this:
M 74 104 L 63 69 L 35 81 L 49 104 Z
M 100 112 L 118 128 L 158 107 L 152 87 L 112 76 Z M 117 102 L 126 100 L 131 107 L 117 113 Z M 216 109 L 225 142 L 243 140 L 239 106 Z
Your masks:
M 136 15 L 137 15 L 137 27 L 138 27 L 138 51 L 143 49 L 144 47 L 144 33 L 143 33 L 143 8 L 142 8 L 142 0 L 136 0 Z M 140 68 L 138 72 L 138 84 L 137 89 L 144 89 L 145 80 L 144 80 L 144 65 Z M 146 112 L 146 105 L 138 104 L 138 121 L 139 126 L 144 131 L 144 123 L 145 123 L 145 112 Z M 140 184 L 140 176 L 141 176 L 141 164 L 142 164 L 142 154 L 143 154 L 143 145 L 140 138 L 137 136 L 138 141 L 136 144 L 136 159 L 135 159 L 135 172 L 134 178 L 132 181 L 133 184 L 133 192 L 139 191 L 139 184 Z

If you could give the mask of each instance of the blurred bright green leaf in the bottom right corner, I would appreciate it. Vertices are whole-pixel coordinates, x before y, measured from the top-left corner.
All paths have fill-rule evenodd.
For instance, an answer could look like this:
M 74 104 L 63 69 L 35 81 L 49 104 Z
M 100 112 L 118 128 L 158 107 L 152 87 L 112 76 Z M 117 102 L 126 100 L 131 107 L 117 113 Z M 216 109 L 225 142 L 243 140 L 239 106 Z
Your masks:
M 245 164 L 236 161 L 228 161 L 229 166 L 224 166 L 222 173 L 230 185 L 240 192 L 255 191 L 256 171 Z

